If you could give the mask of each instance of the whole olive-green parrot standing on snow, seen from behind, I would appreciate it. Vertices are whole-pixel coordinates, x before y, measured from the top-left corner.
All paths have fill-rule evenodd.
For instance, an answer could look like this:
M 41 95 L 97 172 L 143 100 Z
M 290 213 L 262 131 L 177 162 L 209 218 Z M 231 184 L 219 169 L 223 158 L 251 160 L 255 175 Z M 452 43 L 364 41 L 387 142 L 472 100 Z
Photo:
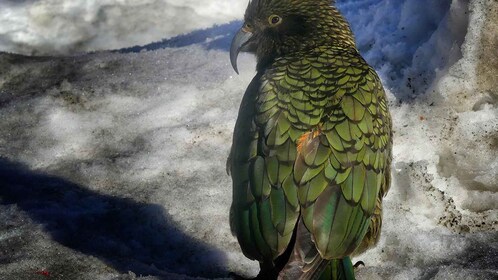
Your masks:
M 230 228 L 253 279 L 355 279 L 391 185 L 382 82 L 331 0 L 251 0 L 230 46 L 256 56 L 227 160 Z M 235 279 L 244 277 L 232 274 Z

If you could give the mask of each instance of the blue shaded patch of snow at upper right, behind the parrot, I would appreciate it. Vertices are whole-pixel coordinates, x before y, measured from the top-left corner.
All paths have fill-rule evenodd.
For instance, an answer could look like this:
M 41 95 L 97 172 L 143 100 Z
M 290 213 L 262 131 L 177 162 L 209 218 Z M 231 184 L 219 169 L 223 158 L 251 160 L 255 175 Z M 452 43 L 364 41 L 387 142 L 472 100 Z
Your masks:
M 460 55 L 467 28 L 463 2 L 346 1 L 339 7 L 365 59 L 398 96 L 407 96 L 425 92 L 437 69 Z

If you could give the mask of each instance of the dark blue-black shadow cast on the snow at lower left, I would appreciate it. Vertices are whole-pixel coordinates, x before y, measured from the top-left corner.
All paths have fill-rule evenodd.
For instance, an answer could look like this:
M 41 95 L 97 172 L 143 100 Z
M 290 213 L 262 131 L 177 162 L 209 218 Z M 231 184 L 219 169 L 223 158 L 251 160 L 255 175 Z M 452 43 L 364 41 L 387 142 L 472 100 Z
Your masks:
M 97 257 L 121 273 L 132 271 L 164 280 L 163 272 L 226 275 L 225 254 L 179 230 L 160 205 L 100 194 L 2 157 L 0 203 L 15 204 L 56 242 Z M 23 250 L 18 247 L 15 250 Z M 64 273 L 60 265 L 45 268 L 59 279 Z

